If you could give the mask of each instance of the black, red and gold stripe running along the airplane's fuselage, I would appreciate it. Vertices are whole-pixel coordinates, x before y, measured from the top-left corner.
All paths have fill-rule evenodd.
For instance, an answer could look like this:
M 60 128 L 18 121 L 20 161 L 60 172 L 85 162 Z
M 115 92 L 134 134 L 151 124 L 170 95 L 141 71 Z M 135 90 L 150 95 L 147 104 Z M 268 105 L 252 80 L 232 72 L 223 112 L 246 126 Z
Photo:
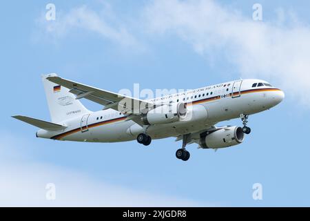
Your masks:
M 238 95 L 245 95 L 245 94 L 248 94 L 248 93 L 256 93 L 256 92 L 265 92 L 265 91 L 281 91 L 280 89 L 278 88 L 256 88 L 256 89 L 251 89 L 251 90 L 242 90 L 239 92 L 236 92 L 236 93 L 229 93 L 229 97 L 231 96 L 238 96 Z M 201 104 L 201 103 L 205 103 L 205 102 L 212 102 L 212 101 L 215 101 L 215 100 L 218 100 L 220 99 L 220 96 L 214 96 L 214 97 L 209 97 L 209 98 L 205 98 L 205 99 L 200 99 L 198 101 L 195 101 L 195 102 L 190 102 L 190 103 L 187 103 L 187 105 L 195 105 L 195 104 Z M 103 122 L 98 122 L 98 123 L 94 123 L 94 124 L 90 124 L 88 125 L 88 128 L 94 128 L 96 126 L 102 126 L 102 125 L 105 125 L 105 124 L 112 124 L 112 123 L 115 123 L 115 122 L 121 122 L 122 120 L 125 120 L 127 117 L 118 117 L 116 119 L 109 119 L 109 120 L 106 120 L 106 121 L 103 121 Z M 66 137 L 68 135 L 72 135 L 73 133 L 77 133 L 79 131 L 82 130 L 85 130 L 87 127 L 86 126 L 83 126 L 82 128 L 76 128 L 72 131 L 67 131 L 65 133 L 61 133 L 59 135 L 56 135 L 54 137 L 51 137 L 50 139 L 52 140 L 61 140 L 61 138 L 63 137 Z

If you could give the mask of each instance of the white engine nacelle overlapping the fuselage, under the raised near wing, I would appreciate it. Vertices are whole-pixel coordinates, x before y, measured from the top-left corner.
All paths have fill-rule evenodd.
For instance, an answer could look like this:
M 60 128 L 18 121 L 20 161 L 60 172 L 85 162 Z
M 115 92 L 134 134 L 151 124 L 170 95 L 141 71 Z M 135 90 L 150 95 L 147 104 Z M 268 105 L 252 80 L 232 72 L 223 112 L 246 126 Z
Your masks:
M 178 122 L 187 115 L 186 105 L 183 103 L 164 104 L 154 108 L 142 117 L 145 125 L 169 124 Z

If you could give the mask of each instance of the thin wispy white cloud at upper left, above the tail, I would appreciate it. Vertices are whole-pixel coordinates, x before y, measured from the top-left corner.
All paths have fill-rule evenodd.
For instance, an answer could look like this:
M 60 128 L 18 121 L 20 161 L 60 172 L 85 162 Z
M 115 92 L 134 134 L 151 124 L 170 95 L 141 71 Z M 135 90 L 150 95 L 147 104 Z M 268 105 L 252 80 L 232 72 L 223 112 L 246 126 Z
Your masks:
M 37 23 L 46 36 L 54 39 L 65 37 L 74 29 L 81 29 L 94 32 L 103 39 L 114 41 L 121 46 L 141 46 L 124 24 L 117 20 L 107 3 L 101 12 L 96 12 L 87 6 L 72 8 L 69 12 L 56 10 L 56 20 L 48 21 L 45 19 L 45 14 L 42 14 Z

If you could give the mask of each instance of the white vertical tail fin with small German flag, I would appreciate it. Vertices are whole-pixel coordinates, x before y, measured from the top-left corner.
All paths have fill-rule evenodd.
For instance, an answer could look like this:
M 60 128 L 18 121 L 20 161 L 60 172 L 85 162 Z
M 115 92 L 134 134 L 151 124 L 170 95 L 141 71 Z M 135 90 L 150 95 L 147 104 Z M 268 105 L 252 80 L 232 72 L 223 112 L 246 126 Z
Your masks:
M 56 77 L 56 74 L 42 75 L 42 81 L 45 89 L 50 117 L 53 123 L 62 122 L 65 119 L 77 117 L 90 113 L 68 88 L 57 85 L 46 79 L 47 77 Z

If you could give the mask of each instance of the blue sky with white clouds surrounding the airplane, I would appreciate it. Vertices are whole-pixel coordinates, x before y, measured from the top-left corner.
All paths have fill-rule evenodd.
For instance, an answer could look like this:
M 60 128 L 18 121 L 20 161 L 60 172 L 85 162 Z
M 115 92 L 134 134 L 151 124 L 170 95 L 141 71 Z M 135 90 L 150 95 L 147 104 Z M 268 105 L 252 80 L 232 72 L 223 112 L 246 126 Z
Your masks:
M 56 21 L 45 21 L 54 3 Z M 263 21 L 252 20 L 262 4 Z M 308 1 L 6 1 L 1 3 L 1 205 L 310 206 Z M 41 74 L 106 90 L 199 88 L 259 77 L 282 88 L 251 116 L 234 148 L 156 140 L 87 144 L 40 140 L 12 119 L 50 120 Z M 101 106 L 83 101 L 92 111 Z M 240 119 L 220 125 L 241 125 Z M 45 200 L 45 184 L 56 200 Z M 263 200 L 252 185 L 262 184 Z

